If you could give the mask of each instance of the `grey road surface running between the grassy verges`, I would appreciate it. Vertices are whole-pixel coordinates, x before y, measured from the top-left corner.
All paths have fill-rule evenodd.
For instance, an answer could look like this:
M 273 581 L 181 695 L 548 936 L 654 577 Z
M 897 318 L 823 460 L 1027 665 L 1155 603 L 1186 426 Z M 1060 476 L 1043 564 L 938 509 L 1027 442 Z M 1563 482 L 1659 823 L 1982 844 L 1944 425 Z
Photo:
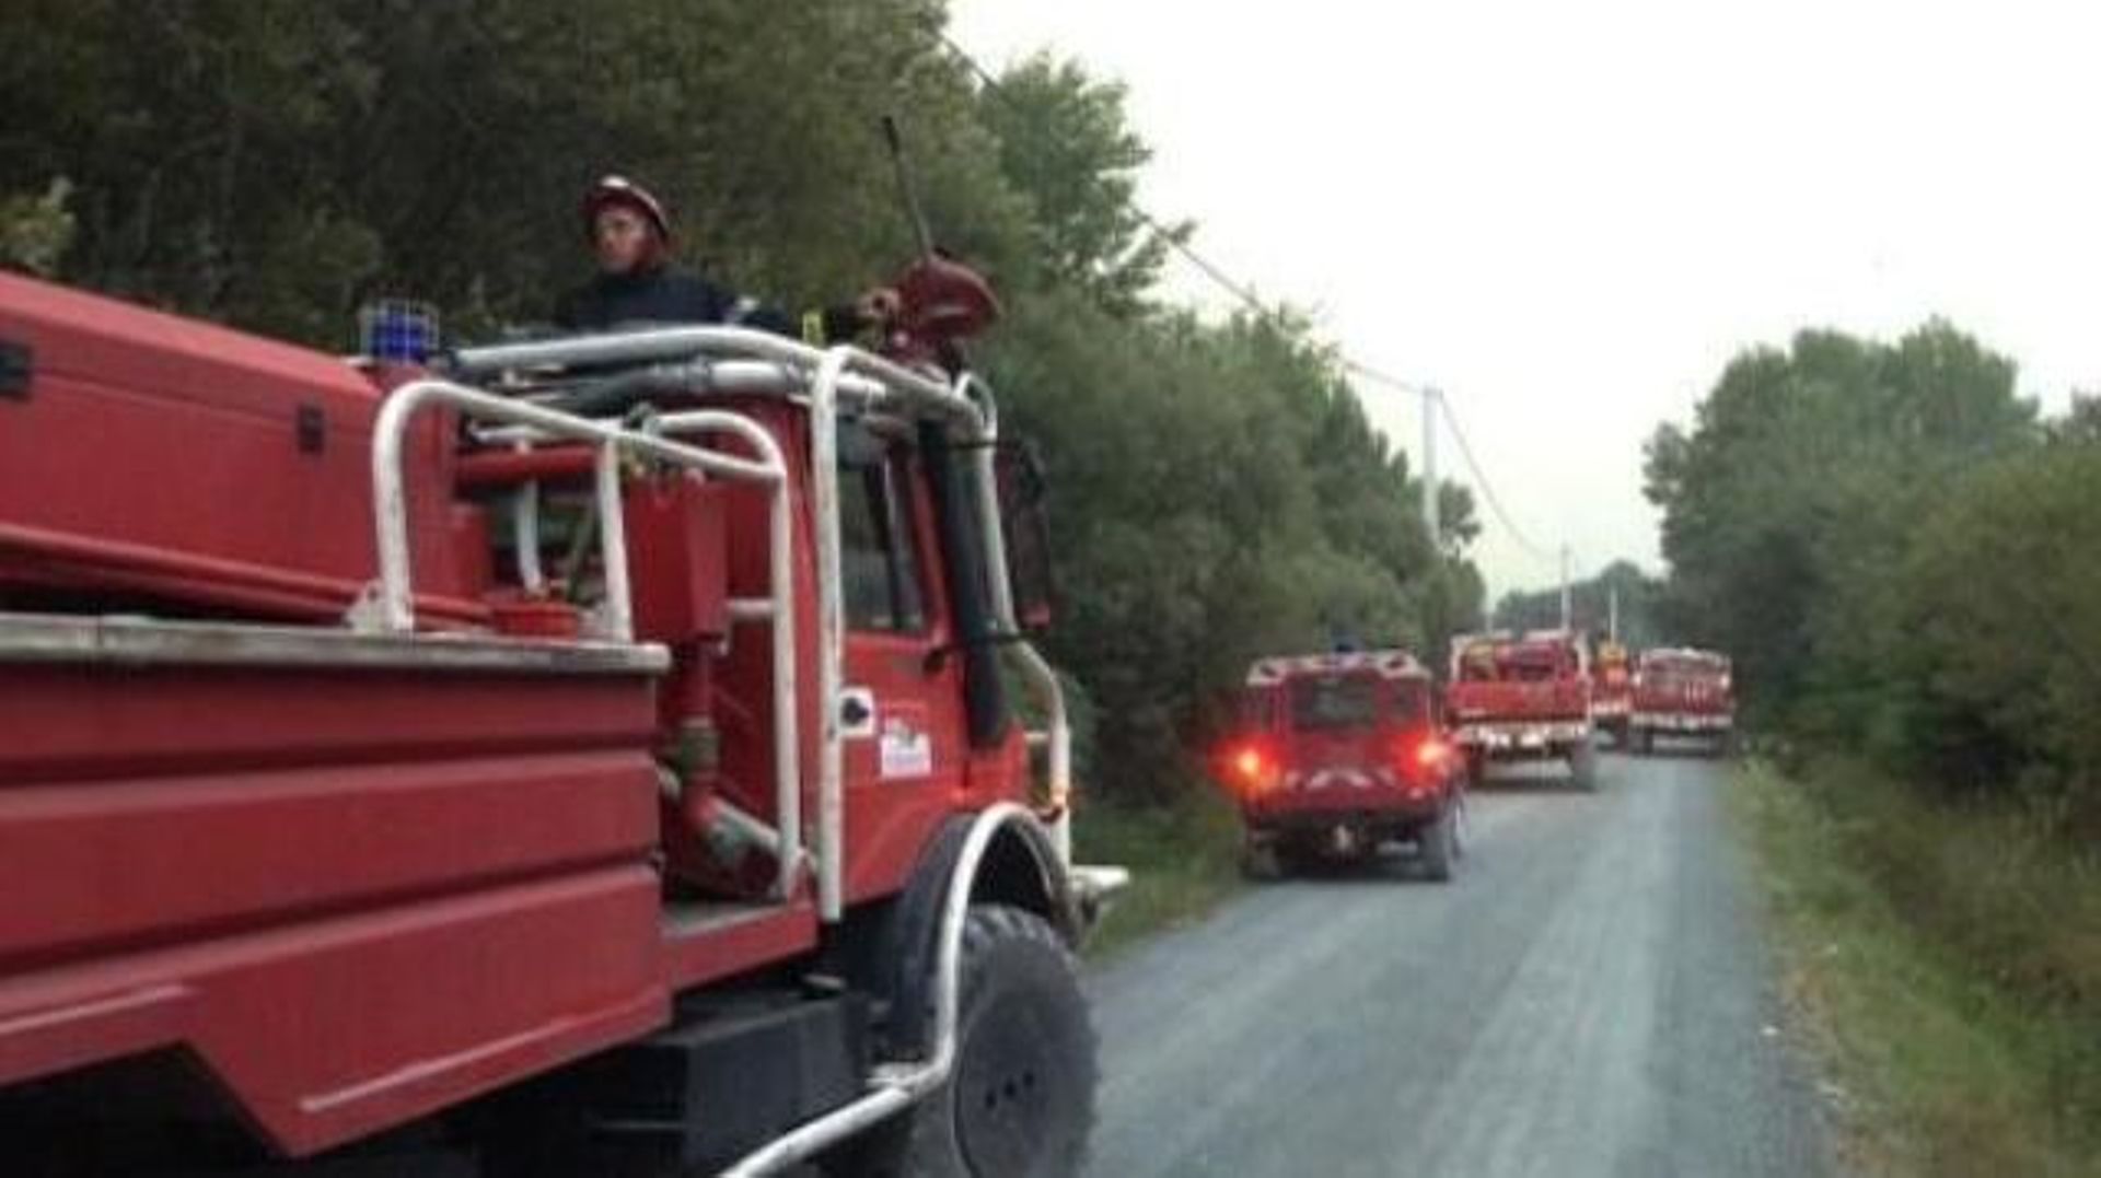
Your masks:
M 1826 1174 L 1725 769 L 1473 794 L 1450 886 L 1261 884 L 1090 979 L 1093 1174 Z

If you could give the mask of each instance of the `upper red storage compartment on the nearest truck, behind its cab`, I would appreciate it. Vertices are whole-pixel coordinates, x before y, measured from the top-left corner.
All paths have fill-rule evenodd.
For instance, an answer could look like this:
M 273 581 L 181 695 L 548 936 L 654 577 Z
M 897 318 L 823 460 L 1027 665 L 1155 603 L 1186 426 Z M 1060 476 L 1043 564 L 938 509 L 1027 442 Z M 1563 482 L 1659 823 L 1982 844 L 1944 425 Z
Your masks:
M 0 273 L 0 605 L 338 617 L 378 569 L 380 401 L 336 357 Z M 431 617 L 479 622 L 485 531 L 452 462 L 431 414 L 410 447 L 416 588 Z

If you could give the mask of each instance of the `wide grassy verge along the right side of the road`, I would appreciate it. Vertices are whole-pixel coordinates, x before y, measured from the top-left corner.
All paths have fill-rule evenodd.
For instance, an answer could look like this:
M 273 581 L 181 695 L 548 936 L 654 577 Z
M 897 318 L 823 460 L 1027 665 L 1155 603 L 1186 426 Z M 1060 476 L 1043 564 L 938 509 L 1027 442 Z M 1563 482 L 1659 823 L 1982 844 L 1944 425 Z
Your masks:
M 1752 764 L 1729 804 L 1847 1168 L 2101 1176 L 2093 857 L 1853 762 Z

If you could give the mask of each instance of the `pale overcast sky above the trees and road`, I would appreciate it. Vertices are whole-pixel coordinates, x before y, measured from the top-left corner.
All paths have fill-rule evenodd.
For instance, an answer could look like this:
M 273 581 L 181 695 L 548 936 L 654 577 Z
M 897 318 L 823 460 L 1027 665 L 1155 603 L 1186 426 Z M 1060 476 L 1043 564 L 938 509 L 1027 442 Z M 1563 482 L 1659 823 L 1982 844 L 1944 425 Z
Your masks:
M 1641 439 L 1748 342 L 1946 315 L 2101 388 L 2086 4 L 952 0 L 998 69 L 1130 86 L 1141 199 L 1443 386 L 1519 527 L 1658 565 Z M 1223 307 L 1193 273 L 1177 296 Z M 1361 386 L 1418 454 L 1410 397 Z M 1441 466 L 1454 468 L 1450 441 Z M 1485 514 L 1485 512 L 1483 512 Z M 1494 525 L 1494 592 L 1553 580 Z

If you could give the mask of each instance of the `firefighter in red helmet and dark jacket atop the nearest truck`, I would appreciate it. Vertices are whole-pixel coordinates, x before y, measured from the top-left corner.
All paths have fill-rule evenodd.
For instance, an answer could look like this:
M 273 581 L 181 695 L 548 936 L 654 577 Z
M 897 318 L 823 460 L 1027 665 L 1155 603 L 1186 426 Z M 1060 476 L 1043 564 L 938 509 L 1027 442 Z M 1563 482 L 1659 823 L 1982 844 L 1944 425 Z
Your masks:
M 887 286 L 851 304 L 811 311 L 796 323 L 773 307 L 687 273 L 670 260 L 664 204 L 624 176 L 590 185 L 582 214 L 599 273 L 555 307 L 555 323 L 571 332 L 630 323 L 727 323 L 828 344 L 885 328 L 897 317 L 897 292 Z

